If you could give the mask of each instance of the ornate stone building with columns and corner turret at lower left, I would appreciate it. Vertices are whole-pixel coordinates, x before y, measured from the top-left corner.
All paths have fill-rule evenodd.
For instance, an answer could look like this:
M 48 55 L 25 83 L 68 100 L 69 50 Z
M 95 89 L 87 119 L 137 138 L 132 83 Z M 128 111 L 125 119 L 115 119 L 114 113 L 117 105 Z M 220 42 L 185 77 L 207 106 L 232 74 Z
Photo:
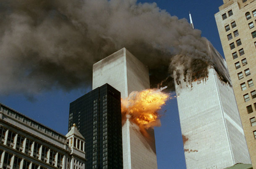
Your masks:
M 67 138 L 80 138 L 80 147 Z M 85 162 L 84 139 L 79 135 L 62 135 L 0 104 L 1 169 L 85 169 Z

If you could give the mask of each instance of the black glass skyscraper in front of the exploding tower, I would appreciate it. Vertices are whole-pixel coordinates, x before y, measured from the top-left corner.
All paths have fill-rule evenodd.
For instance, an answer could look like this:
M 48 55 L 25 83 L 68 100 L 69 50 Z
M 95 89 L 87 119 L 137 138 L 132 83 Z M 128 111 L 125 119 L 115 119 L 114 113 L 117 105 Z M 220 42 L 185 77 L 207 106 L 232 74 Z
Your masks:
M 71 102 L 72 124 L 85 138 L 86 169 L 123 169 L 120 92 L 104 84 Z

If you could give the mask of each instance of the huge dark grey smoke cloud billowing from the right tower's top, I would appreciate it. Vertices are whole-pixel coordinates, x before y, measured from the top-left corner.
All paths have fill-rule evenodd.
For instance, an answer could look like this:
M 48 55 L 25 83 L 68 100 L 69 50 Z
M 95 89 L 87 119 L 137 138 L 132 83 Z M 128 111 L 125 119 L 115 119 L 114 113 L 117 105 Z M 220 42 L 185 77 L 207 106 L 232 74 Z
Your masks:
M 209 66 L 229 81 L 201 31 L 156 3 L 1 0 L 0 16 L 0 94 L 91 86 L 92 65 L 123 47 L 148 65 L 152 87 L 162 81 L 173 90 L 177 64 L 188 81 Z

